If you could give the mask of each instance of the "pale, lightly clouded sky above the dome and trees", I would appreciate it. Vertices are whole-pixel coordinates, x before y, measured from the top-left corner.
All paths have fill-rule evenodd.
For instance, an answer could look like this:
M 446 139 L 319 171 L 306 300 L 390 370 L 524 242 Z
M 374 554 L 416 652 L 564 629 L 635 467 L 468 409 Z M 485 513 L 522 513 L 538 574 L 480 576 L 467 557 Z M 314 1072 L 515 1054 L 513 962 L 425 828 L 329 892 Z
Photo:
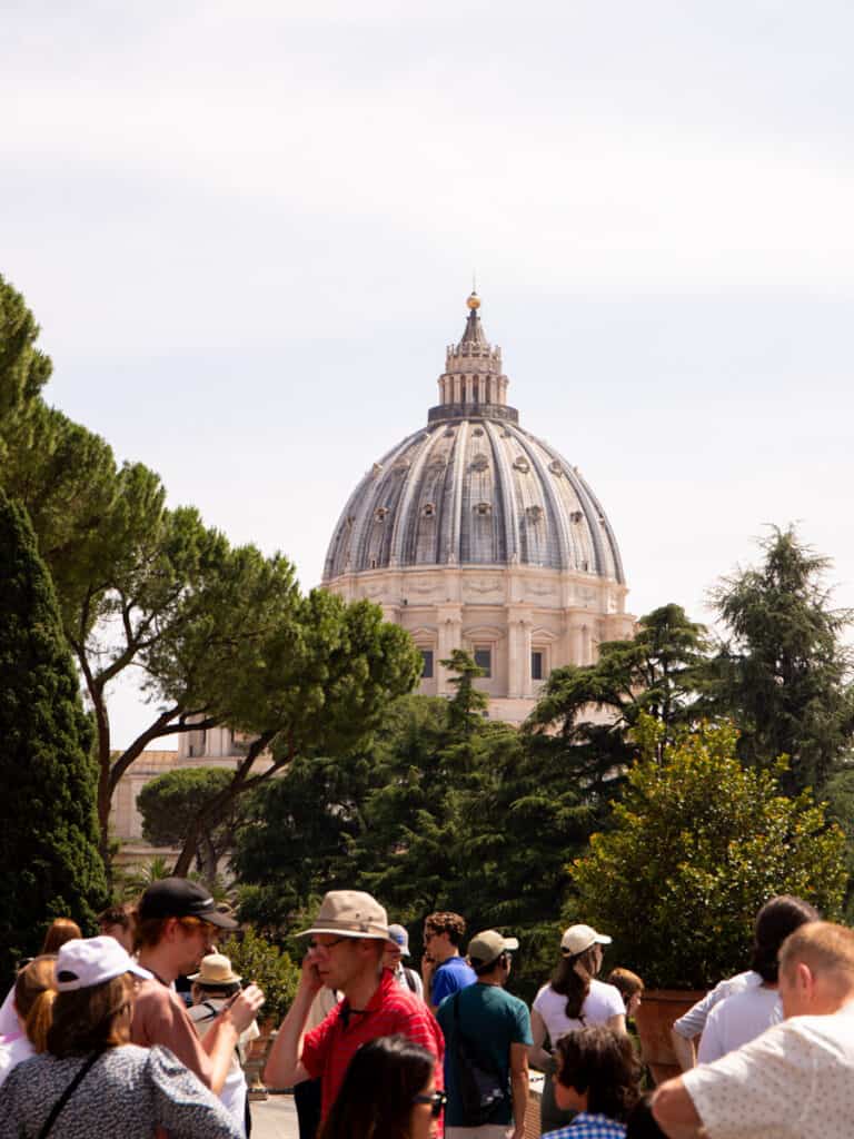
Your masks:
M 829 0 L 11 0 L 0 272 L 48 399 L 305 587 L 476 270 L 632 612 L 708 620 L 789 522 L 854 605 L 852 42 Z

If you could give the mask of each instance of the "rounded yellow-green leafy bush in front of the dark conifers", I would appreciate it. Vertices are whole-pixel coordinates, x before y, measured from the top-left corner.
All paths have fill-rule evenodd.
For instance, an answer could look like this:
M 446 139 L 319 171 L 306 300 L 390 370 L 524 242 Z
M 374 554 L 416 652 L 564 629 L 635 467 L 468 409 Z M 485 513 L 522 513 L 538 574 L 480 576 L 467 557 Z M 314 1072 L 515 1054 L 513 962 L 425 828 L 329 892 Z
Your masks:
M 758 908 L 796 894 L 838 917 L 841 831 L 808 793 L 745 770 L 729 724 L 685 732 L 657 757 L 660 729 L 640 722 L 646 757 L 629 772 L 611 829 L 572 867 L 568 920 L 615 937 L 615 959 L 651 988 L 705 989 L 745 968 Z M 778 769 L 781 770 L 781 769 Z

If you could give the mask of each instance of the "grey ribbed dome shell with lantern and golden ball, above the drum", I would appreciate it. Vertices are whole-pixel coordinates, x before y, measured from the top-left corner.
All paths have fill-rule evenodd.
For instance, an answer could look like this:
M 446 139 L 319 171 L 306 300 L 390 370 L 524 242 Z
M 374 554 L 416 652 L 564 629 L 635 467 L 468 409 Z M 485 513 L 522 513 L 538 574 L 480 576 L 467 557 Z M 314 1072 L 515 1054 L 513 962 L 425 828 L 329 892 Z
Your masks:
M 507 407 L 501 352 L 471 308 L 447 350 L 429 426 L 392 448 L 350 497 L 323 580 L 399 566 L 507 565 L 624 582 L 614 532 L 575 467 Z

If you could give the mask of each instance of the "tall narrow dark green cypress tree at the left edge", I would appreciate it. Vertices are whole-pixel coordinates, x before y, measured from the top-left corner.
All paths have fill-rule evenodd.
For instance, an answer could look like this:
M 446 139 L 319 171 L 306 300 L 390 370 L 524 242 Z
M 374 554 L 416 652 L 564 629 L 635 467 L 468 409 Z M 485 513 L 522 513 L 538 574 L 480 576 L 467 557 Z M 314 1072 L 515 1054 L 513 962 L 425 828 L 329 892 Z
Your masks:
M 25 510 L 0 491 L 0 973 L 44 921 L 106 900 L 91 726 Z

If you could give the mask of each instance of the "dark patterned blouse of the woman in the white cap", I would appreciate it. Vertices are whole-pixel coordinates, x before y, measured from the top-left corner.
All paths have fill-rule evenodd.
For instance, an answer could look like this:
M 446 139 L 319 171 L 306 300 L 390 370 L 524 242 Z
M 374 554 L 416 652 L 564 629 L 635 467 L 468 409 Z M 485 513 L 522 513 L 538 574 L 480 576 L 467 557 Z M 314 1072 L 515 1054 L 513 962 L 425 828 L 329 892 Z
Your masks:
M 36 1139 L 84 1056 L 34 1056 L 0 1088 L 0 1139 Z M 233 1117 L 165 1048 L 109 1048 L 77 1084 L 51 1139 L 151 1139 L 156 1126 L 187 1139 L 240 1139 Z

